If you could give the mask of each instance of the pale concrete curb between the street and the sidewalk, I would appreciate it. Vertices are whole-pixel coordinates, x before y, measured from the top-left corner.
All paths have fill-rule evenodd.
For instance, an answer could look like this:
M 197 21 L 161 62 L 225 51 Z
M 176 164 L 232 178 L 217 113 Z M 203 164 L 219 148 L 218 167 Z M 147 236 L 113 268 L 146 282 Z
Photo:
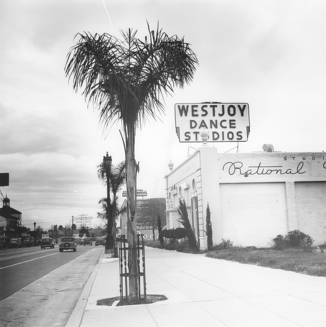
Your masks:
M 99 262 L 95 265 L 93 271 L 91 272 L 90 277 L 88 278 L 65 327 L 79 327 L 80 326 L 83 316 L 84 316 L 84 311 L 85 311 L 85 307 L 86 307 L 86 304 L 88 301 L 88 297 L 90 295 L 90 291 L 92 289 L 94 280 L 96 278 L 97 272 L 99 270 L 99 267 L 102 263 L 103 256 L 105 254 L 104 252 L 105 251 L 102 251 L 102 254 L 99 257 Z

